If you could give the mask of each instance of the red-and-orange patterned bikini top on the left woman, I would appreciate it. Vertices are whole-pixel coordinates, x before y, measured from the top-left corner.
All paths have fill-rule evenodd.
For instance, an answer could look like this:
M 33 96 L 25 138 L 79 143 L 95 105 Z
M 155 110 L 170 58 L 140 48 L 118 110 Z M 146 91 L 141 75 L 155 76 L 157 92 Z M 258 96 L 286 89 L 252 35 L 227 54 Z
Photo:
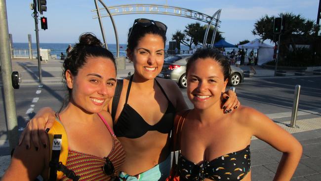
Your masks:
M 98 114 L 99 115 L 99 114 Z M 120 141 L 115 136 L 113 130 L 109 127 L 107 122 L 103 117 L 99 115 L 103 120 L 106 127 L 113 138 L 113 148 L 110 151 L 107 158 L 113 163 L 115 168 L 115 173 L 120 172 L 120 167 L 125 161 L 125 151 L 123 150 Z M 107 176 L 103 171 L 103 166 L 105 165 L 106 157 L 100 158 L 94 155 L 81 153 L 75 150 L 68 151 L 67 157 L 67 168 L 74 171 L 77 176 L 80 176 L 80 181 L 110 181 L 111 176 Z M 62 177 L 61 181 L 71 181 L 65 175 Z

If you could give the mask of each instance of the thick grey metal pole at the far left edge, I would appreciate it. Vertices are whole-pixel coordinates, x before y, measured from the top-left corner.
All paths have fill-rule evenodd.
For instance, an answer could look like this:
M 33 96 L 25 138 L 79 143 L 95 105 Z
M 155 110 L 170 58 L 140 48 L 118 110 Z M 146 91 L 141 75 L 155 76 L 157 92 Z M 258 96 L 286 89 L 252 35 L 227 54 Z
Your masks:
M 5 0 L 0 0 L 0 61 L 4 92 L 5 119 L 7 124 L 10 151 L 18 145 L 18 122 L 16 103 L 12 88 L 12 65 L 9 45 L 8 18 Z

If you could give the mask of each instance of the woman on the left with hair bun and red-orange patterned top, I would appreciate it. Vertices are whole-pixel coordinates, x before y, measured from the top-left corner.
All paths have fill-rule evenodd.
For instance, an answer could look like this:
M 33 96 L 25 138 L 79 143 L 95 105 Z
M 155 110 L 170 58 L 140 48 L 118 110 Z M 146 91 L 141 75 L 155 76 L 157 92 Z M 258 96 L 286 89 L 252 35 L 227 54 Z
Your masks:
M 65 172 L 60 180 L 109 181 L 118 177 L 125 160 L 111 115 L 103 111 L 115 93 L 115 58 L 92 34 L 81 35 L 79 41 L 63 63 L 69 98 L 55 118 L 68 137 L 68 157 L 61 166 Z M 39 175 L 56 180 L 51 171 L 49 176 L 49 165 L 54 169 L 49 151 L 49 146 L 18 146 L 2 181 L 34 181 Z

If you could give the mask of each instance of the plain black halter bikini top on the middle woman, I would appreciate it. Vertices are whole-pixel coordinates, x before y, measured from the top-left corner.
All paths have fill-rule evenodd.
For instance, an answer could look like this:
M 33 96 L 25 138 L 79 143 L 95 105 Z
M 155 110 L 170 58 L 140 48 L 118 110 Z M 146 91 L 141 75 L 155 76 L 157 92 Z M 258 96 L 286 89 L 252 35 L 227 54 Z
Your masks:
M 170 133 L 173 127 L 173 121 L 174 121 L 176 111 L 175 111 L 175 107 L 168 99 L 165 91 L 161 88 L 160 83 L 155 79 L 156 83 L 161 88 L 161 91 L 163 92 L 166 99 L 168 100 L 168 106 L 165 114 L 161 117 L 161 120 L 155 125 L 150 125 L 135 111 L 135 109 L 133 109 L 129 104 L 127 104 L 132 79 L 133 77 L 130 78 L 128 83 L 125 104 L 122 108 L 122 111 L 120 112 L 120 116 L 118 118 L 117 123 L 114 125 L 115 135 L 117 137 L 123 136 L 127 138 L 138 138 L 145 135 L 148 131 L 158 131 L 163 134 Z M 116 91 L 117 91 L 117 88 L 116 88 Z M 115 92 L 115 94 L 120 95 L 119 92 Z M 115 101 L 119 101 L 119 99 Z M 113 104 L 114 104 L 114 100 L 113 100 Z M 115 120 L 115 113 L 116 113 L 115 110 L 117 109 L 117 106 L 116 108 L 114 107 L 115 106 L 113 106 L 112 108 L 113 120 Z

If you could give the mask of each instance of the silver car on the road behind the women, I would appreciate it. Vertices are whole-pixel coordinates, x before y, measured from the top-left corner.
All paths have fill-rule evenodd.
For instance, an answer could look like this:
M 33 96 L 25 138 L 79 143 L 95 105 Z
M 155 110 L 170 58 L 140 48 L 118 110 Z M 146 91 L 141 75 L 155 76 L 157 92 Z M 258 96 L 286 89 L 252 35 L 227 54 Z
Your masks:
M 181 88 L 187 87 L 186 63 L 191 54 L 172 55 L 164 59 L 164 65 L 158 77 L 171 79 Z M 229 85 L 238 86 L 244 81 L 243 70 L 239 67 L 231 66 L 232 73 L 229 78 Z

